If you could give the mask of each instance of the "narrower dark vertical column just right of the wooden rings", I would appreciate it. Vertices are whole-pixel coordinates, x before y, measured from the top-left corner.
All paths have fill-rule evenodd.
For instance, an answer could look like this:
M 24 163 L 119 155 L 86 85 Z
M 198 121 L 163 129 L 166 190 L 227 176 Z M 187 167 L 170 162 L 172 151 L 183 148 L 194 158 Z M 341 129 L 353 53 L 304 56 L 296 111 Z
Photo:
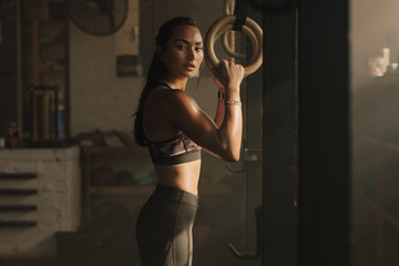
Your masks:
M 296 11 L 264 16 L 262 265 L 297 263 Z

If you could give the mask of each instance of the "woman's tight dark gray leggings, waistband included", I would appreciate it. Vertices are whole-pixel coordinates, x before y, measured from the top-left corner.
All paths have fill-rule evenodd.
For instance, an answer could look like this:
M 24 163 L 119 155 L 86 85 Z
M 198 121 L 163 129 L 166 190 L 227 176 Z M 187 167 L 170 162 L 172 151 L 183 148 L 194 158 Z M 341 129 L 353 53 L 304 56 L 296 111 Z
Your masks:
M 141 209 L 136 237 L 142 266 L 191 266 L 198 197 L 157 185 Z

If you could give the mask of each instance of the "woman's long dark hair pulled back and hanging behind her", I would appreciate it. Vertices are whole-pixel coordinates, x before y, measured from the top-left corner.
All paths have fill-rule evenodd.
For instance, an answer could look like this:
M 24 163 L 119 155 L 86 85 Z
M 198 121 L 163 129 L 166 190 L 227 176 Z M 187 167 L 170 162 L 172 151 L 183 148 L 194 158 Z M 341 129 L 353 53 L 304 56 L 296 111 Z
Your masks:
M 156 48 L 158 47 L 166 47 L 166 43 L 168 39 L 172 35 L 173 30 L 177 25 L 193 25 L 197 28 L 196 22 L 187 17 L 177 17 L 174 19 L 171 19 L 163 23 L 158 33 L 155 38 Z M 143 88 L 143 91 L 141 93 L 140 100 L 139 100 L 139 106 L 137 111 L 135 112 L 135 120 L 134 120 L 134 139 L 135 142 L 141 145 L 145 146 L 145 136 L 143 132 L 143 110 L 144 110 L 144 103 L 149 95 L 149 93 L 156 86 L 156 83 L 160 82 L 160 79 L 162 74 L 165 71 L 165 66 L 163 65 L 162 61 L 160 60 L 156 50 L 154 52 L 153 59 L 150 64 L 150 69 L 146 75 L 146 81 Z

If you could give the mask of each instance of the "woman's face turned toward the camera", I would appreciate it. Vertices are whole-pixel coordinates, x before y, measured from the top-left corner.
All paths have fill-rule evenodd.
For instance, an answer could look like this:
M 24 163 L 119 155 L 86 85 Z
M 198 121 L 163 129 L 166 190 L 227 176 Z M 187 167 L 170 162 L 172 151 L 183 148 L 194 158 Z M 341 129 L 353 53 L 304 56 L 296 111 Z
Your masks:
M 158 55 L 172 76 L 195 76 L 204 59 L 200 30 L 193 25 L 175 27 L 166 48 L 161 49 Z

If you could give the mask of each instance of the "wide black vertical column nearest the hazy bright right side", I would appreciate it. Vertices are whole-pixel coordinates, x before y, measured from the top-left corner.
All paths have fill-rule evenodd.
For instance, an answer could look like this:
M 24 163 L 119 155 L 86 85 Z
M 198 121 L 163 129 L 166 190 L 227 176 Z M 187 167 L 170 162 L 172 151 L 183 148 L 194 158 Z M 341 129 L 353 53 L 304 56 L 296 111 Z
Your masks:
M 299 4 L 299 265 L 349 265 L 348 0 Z

